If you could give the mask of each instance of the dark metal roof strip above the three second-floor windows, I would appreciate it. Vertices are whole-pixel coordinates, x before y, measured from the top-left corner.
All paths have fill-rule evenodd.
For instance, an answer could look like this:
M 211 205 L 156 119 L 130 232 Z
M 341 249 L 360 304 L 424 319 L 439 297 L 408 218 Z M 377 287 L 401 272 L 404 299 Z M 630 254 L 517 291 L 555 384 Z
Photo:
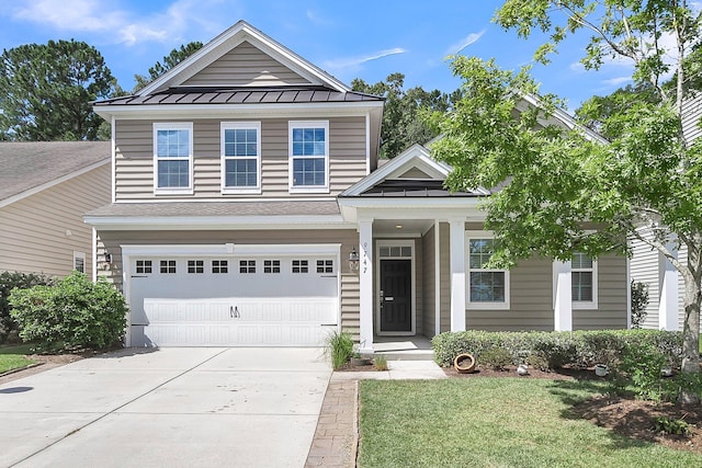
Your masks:
M 168 104 L 291 104 L 312 102 L 381 102 L 383 98 L 355 91 L 341 92 L 325 87 L 282 88 L 211 88 L 182 87 L 138 96 L 127 95 L 98 101 L 105 105 L 168 105 Z

